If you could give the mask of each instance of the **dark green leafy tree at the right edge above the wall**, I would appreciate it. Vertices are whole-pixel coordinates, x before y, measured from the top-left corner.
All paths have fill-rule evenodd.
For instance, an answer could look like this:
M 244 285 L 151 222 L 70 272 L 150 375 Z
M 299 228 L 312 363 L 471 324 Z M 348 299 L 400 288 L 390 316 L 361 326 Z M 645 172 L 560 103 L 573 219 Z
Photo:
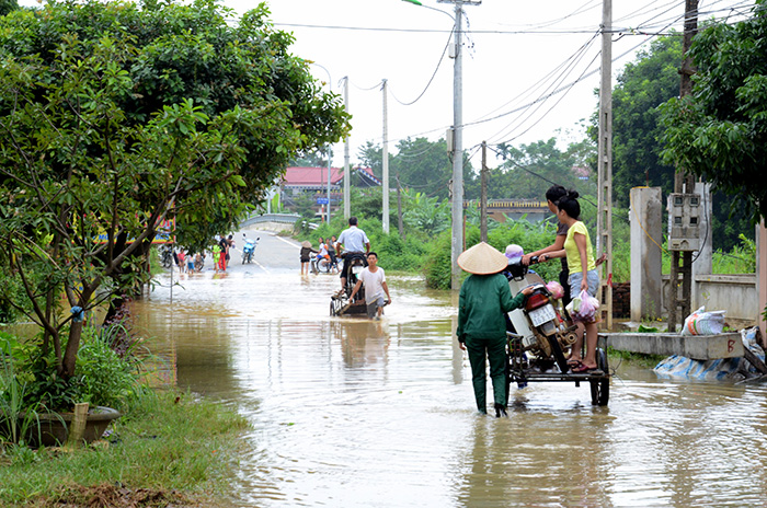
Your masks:
M 741 199 L 752 220 L 767 218 L 767 2 L 734 25 L 692 39 L 692 93 L 662 108 L 663 158 Z

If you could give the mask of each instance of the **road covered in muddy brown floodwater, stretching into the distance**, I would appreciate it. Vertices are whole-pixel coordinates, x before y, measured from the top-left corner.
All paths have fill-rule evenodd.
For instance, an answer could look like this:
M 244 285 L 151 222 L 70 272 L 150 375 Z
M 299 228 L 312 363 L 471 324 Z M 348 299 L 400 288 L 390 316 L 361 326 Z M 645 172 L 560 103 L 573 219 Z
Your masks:
M 160 276 L 135 304 L 169 382 L 252 422 L 232 506 L 767 506 L 764 388 L 614 360 L 606 407 L 531 383 L 507 418 L 480 416 L 455 295 L 388 276 L 382 321 L 330 318 L 337 276 L 301 277 L 297 245 L 259 235 L 256 263 L 172 295 Z

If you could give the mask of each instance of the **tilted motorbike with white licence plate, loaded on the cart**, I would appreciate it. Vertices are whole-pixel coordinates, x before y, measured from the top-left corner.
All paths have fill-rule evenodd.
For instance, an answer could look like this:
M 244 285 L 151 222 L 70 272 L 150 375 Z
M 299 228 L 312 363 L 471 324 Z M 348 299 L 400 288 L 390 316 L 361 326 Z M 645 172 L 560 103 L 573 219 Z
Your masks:
M 530 264 L 537 262 L 536 256 L 530 259 Z M 522 259 L 510 262 L 504 275 L 512 295 L 533 286 L 525 307 L 508 313 L 513 326 L 510 332 L 517 342 L 512 348 L 517 349 L 512 351 L 513 356 L 518 362 L 529 362 L 540 370 L 548 370 L 556 363 L 561 373 L 566 373 L 569 367 L 564 355 L 575 343 L 577 327 L 563 319 L 562 302 L 553 297 L 538 274 L 522 264 Z

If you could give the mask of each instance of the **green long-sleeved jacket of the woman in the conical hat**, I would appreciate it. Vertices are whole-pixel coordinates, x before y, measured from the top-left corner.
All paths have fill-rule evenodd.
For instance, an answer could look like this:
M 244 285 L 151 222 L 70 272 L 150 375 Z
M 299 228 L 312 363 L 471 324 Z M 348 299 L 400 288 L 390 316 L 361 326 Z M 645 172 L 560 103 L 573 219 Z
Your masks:
M 466 337 L 505 337 L 504 314 L 524 301 L 523 293 L 512 298 L 508 281 L 501 274 L 470 275 L 463 280 L 458 300 L 458 342 L 466 342 Z

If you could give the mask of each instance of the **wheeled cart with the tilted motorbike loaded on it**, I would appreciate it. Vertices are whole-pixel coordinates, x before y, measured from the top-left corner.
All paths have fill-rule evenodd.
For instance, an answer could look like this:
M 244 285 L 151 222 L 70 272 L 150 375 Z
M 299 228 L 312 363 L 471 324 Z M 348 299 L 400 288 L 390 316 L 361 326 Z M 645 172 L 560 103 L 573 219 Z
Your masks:
M 537 261 L 534 256 L 530 264 Z M 507 314 L 506 395 L 513 381 L 519 388 L 526 386 L 528 381 L 573 381 L 576 386 L 584 381 L 591 386 L 592 404 L 606 406 L 610 374 L 605 350 L 596 351 L 597 370 L 571 372 L 565 354 L 577 338 L 577 327 L 570 324 L 561 300 L 551 293 L 540 276 L 522 264 L 520 258 L 510 263 L 504 275 L 513 295 L 533 287 L 524 308 Z

